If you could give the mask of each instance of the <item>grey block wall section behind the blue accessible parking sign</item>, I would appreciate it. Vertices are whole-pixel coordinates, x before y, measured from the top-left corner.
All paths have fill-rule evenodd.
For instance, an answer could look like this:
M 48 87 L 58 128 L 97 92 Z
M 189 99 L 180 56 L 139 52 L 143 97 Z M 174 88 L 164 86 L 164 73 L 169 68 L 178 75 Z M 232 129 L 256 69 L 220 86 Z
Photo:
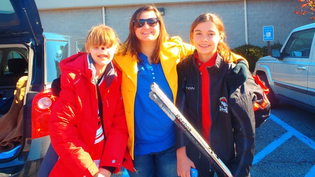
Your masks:
M 297 0 L 247 0 L 249 43 L 267 46 L 263 41 L 263 27 L 274 26 L 274 41 L 284 43 L 292 29 L 314 23 L 309 15 L 297 15 L 293 11 Z

